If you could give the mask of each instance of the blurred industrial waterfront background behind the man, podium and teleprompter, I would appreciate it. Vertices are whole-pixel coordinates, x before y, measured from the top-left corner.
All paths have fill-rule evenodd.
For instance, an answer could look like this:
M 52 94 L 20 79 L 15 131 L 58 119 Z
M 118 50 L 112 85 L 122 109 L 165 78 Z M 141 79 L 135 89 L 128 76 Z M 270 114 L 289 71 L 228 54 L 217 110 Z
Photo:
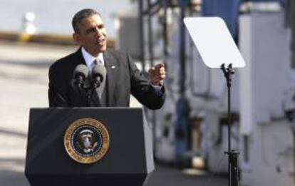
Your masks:
M 246 61 L 232 82 L 240 185 L 295 185 L 294 0 L 0 0 L 0 185 L 24 177 L 29 108 L 48 107 L 48 67 L 77 50 L 71 19 L 96 9 L 108 47 L 144 75 L 164 62 L 167 98 L 145 109 L 156 169 L 145 185 L 227 185 L 227 85 L 202 62 L 182 19 L 220 16 Z M 214 53 L 212 53 L 214 55 Z M 141 106 L 134 98 L 131 106 Z

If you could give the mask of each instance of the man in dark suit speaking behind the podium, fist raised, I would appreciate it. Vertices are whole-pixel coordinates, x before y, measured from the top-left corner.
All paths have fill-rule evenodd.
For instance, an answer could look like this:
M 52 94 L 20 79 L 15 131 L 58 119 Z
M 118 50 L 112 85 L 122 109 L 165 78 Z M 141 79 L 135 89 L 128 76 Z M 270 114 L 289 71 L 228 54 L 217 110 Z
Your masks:
M 148 81 L 128 54 L 107 49 L 105 26 L 98 11 L 78 11 L 73 16 L 72 26 L 73 38 L 81 47 L 51 66 L 48 89 L 50 107 L 128 107 L 130 93 L 150 109 L 162 107 L 165 101 L 165 88 L 162 85 L 165 66 L 162 63 L 150 68 Z M 73 71 L 79 64 L 86 65 L 90 72 L 97 64 L 106 69 L 101 93 L 93 91 L 88 100 L 87 91 L 77 91 L 73 85 Z

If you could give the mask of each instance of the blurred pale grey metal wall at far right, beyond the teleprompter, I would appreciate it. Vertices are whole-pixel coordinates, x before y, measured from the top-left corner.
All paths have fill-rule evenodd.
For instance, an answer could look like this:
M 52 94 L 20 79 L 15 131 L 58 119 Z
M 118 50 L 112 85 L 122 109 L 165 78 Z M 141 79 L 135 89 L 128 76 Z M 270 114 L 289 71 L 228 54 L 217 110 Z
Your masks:
M 242 184 L 291 186 L 294 144 L 284 105 L 286 91 L 295 87 L 295 73 L 284 14 L 256 12 L 241 16 L 239 22 L 240 48 L 247 63 L 239 82 L 240 132 L 248 137 L 247 142 L 240 141 Z

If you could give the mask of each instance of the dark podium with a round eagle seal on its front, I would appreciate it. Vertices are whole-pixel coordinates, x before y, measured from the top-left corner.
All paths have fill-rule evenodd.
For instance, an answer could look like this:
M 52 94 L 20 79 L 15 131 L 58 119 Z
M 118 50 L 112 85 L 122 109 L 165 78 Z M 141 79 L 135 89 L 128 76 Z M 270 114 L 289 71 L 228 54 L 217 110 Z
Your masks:
M 102 124 L 108 139 L 103 132 L 97 135 L 100 140 L 92 146 L 91 140 L 75 142 L 82 137 L 73 137 L 66 143 L 66 133 L 73 131 L 73 126 L 78 131 L 74 134 L 89 132 L 87 128 L 80 129 L 83 120 Z M 71 152 L 77 150 L 67 149 L 68 144 L 78 144 L 78 147 L 84 144 L 88 147 L 83 148 L 88 158 L 90 150 L 103 149 L 100 142 L 108 148 L 100 152 L 95 162 L 78 162 L 83 158 L 71 156 Z M 142 108 L 31 108 L 25 167 L 31 186 L 139 186 L 152 170 L 152 129 L 145 121 Z

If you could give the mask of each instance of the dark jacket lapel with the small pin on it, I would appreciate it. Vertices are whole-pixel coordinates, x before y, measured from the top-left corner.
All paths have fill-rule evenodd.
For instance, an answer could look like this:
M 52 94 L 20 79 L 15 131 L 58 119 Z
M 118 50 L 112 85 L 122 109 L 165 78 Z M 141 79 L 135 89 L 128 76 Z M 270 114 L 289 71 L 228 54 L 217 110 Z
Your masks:
M 107 69 L 107 84 L 105 88 L 107 88 L 108 93 L 108 106 L 113 105 L 113 96 L 115 92 L 115 77 L 116 77 L 116 71 L 118 70 L 118 62 L 115 59 L 115 57 L 108 51 L 105 51 L 103 53 L 103 57 L 105 59 L 105 68 Z

